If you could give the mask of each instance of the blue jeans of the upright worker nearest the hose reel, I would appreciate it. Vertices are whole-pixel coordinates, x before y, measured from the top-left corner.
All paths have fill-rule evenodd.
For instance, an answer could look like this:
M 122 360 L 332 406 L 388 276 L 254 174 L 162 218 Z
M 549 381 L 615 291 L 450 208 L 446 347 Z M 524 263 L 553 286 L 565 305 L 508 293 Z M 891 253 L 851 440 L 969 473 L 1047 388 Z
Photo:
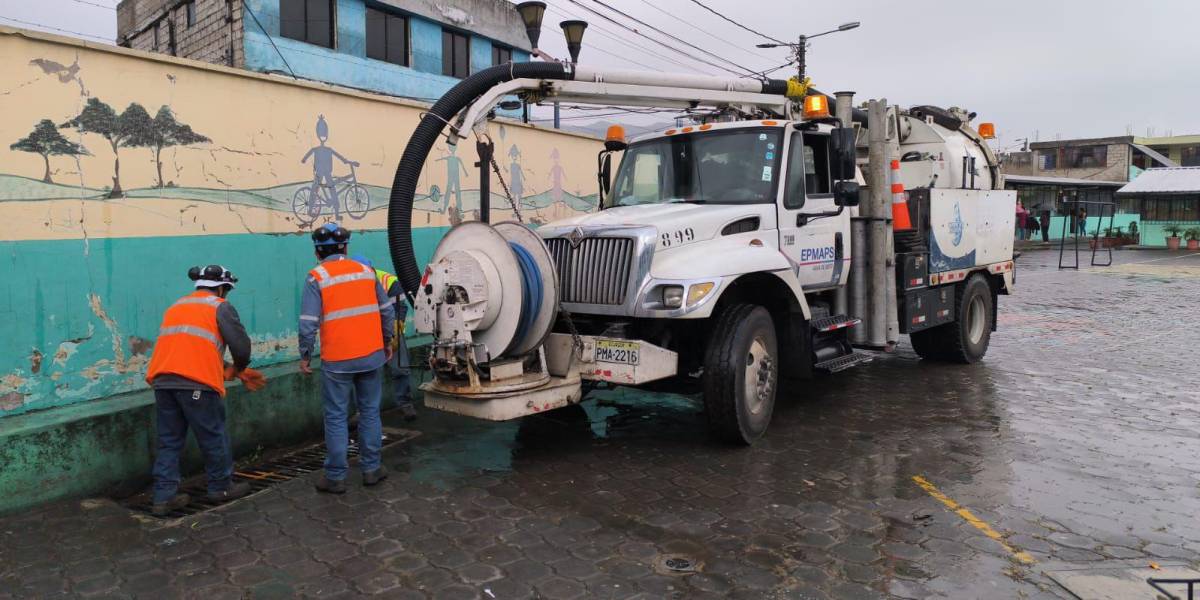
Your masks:
M 320 372 L 320 391 L 325 402 L 325 478 L 346 479 L 349 470 L 350 402 L 359 409 L 359 467 L 364 473 L 379 468 L 383 448 L 383 421 L 379 419 L 379 398 L 383 395 L 383 370 L 361 373 Z

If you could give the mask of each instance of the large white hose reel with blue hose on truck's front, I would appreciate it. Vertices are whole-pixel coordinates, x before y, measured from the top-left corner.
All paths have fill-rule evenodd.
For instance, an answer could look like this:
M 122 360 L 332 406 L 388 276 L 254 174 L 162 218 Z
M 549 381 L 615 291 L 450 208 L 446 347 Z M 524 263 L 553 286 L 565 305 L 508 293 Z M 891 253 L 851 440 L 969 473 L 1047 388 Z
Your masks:
M 554 260 L 529 228 L 461 223 L 443 236 L 416 294 L 416 329 L 440 356 L 479 365 L 536 350 L 558 316 Z M 454 350 L 454 352 L 450 352 Z

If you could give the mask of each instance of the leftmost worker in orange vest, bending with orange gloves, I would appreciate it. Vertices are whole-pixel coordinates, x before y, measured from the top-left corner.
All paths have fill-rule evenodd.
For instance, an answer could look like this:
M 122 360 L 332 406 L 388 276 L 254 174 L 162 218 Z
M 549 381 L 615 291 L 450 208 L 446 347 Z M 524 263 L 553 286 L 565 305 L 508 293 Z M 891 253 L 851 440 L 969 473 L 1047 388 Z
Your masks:
M 162 318 L 146 383 L 154 388 L 158 452 L 154 463 L 151 511 L 167 516 L 191 498 L 179 493 L 179 455 L 187 430 L 204 455 L 208 499 L 228 502 L 250 493 L 250 484 L 233 481 L 233 451 L 226 430 L 224 382 L 241 378 L 257 391 L 266 379 L 250 365 L 250 336 L 226 296 L 238 283 L 228 269 L 193 266 L 196 292 L 179 299 Z M 233 364 L 224 362 L 229 348 Z

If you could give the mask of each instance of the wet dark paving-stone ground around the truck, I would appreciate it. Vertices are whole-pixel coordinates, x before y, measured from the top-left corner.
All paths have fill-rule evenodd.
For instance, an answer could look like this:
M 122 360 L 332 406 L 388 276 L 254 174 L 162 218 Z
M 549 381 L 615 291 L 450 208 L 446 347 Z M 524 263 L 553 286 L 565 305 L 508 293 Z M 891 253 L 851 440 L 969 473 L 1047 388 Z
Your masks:
M 1069 598 L 1046 569 L 1194 566 L 1200 254 L 1115 258 L 1027 252 L 983 364 L 905 343 L 780 398 L 751 449 L 634 391 L 521 422 L 425 412 L 392 478 L 343 497 L 0 518 L 0 598 Z

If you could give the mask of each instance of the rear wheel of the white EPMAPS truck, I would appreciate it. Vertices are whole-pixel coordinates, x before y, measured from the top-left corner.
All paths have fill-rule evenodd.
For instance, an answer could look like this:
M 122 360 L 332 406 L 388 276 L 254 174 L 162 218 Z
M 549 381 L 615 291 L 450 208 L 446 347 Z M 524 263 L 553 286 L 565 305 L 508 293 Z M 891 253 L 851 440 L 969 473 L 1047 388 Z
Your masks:
M 912 349 L 929 360 L 979 362 L 991 342 L 995 302 L 988 280 L 972 275 L 954 290 L 954 323 L 911 334 Z

